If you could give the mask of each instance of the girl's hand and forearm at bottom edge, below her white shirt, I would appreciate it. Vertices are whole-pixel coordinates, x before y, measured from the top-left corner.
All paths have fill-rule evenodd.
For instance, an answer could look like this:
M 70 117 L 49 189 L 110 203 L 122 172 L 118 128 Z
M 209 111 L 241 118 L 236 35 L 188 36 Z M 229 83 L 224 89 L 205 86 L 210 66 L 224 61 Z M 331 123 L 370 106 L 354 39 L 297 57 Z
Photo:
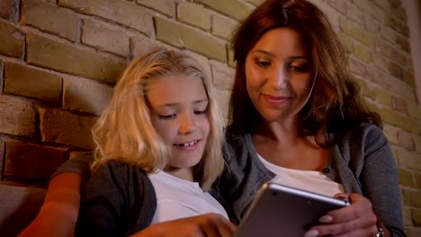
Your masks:
M 131 237 L 228 237 L 233 236 L 235 230 L 236 226 L 231 224 L 224 216 L 210 213 L 177 219 L 174 221 L 152 224 L 143 231 L 131 235 Z

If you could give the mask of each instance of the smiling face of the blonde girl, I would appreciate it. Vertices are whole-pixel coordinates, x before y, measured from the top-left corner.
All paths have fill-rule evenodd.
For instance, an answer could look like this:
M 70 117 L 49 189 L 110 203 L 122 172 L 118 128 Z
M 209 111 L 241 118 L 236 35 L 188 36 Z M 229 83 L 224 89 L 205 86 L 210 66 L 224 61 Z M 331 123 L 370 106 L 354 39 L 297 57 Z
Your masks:
M 148 83 L 152 126 L 171 154 L 167 168 L 191 173 L 200 162 L 210 130 L 208 96 L 198 77 L 177 75 Z

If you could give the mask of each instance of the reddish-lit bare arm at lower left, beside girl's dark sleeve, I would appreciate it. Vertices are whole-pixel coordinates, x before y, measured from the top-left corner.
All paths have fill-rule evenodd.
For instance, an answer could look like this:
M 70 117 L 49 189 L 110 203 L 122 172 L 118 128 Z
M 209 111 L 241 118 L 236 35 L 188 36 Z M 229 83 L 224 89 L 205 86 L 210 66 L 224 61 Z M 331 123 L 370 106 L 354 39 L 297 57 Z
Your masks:
M 82 175 L 64 172 L 49 182 L 40 213 L 18 236 L 74 236 Z

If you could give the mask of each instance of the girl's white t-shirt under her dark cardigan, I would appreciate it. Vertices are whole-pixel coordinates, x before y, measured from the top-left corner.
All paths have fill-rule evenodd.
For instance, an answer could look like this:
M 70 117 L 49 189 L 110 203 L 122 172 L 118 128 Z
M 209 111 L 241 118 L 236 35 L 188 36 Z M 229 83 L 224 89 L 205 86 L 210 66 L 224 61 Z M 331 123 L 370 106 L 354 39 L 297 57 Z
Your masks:
M 218 213 L 228 219 L 224 207 L 208 192 L 203 192 L 198 182 L 183 180 L 164 171 L 149 173 L 148 177 L 157 195 L 152 224 L 207 213 Z

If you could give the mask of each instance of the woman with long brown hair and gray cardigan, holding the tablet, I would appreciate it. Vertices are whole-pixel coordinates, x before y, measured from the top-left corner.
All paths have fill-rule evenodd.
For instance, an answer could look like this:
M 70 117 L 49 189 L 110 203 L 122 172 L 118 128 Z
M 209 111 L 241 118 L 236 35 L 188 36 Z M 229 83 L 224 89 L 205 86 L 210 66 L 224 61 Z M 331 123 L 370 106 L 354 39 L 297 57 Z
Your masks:
M 224 147 L 229 169 L 212 191 L 231 219 L 241 219 L 264 181 L 286 180 L 310 190 L 313 185 L 302 185 L 311 181 L 324 194 L 345 191 L 348 194 L 336 197 L 352 204 L 321 216 L 306 236 L 405 236 L 397 171 L 379 128 L 381 119 L 359 97 L 358 86 L 346 71 L 342 46 L 324 14 L 304 0 L 268 0 L 239 26 L 233 48 L 237 72 Z M 80 198 L 82 178 L 68 172 L 76 162 L 51 180 L 44 205 L 58 208 L 57 198 L 49 197 L 60 189 L 75 195 L 67 230 Z M 70 184 L 53 190 L 66 181 Z M 32 226 L 58 215 L 49 210 L 45 207 Z M 195 223 L 194 218 L 183 221 L 180 230 L 211 226 Z M 166 224 L 168 230 L 178 226 Z

